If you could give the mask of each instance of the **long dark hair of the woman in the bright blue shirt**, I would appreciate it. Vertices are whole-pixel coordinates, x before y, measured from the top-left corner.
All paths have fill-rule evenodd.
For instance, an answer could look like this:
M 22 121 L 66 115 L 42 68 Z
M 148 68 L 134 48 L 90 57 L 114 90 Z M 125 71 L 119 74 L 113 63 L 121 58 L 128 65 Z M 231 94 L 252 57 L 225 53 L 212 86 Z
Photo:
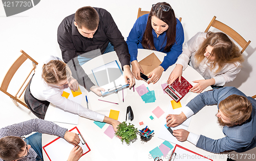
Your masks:
M 157 3 L 156 5 L 166 5 L 169 6 L 166 2 Z M 142 37 L 142 47 L 144 49 L 150 49 L 150 50 L 156 50 L 154 45 L 154 39 L 152 34 L 152 25 L 151 25 L 151 19 L 152 16 L 156 16 L 160 20 L 164 21 L 168 25 L 168 29 L 166 30 L 166 36 L 165 39 L 167 39 L 166 46 L 164 48 L 164 51 L 169 52 L 170 48 L 172 48 L 173 44 L 176 42 L 176 17 L 174 10 L 172 7 L 170 7 L 169 11 L 163 11 L 161 8 L 158 10 L 154 10 L 153 8 L 150 11 L 150 14 L 148 14 L 147 18 L 147 24 L 146 24 L 146 30 Z

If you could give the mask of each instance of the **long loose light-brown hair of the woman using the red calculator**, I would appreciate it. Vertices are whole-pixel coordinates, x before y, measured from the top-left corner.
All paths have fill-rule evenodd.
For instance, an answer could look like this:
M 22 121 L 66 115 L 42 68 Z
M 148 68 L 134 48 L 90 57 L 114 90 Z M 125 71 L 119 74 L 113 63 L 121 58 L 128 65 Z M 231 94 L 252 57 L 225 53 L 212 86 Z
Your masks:
M 196 65 L 205 58 L 204 53 L 208 45 L 213 47 L 211 54 L 214 54 L 215 60 L 209 60 L 210 70 L 212 71 L 218 64 L 219 68 L 216 72 L 219 72 L 222 67 L 227 63 L 243 62 L 244 58 L 236 44 L 231 41 L 228 36 L 222 32 L 208 32 L 206 39 L 202 43 L 201 47 L 195 54 Z

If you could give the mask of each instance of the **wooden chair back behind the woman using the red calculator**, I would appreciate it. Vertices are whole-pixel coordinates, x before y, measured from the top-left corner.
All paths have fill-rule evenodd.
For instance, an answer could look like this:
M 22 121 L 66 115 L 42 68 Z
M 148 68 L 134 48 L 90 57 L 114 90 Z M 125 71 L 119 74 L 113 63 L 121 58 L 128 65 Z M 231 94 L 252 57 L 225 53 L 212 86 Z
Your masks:
M 245 51 L 245 49 L 248 47 L 249 43 L 251 42 L 250 40 L 247 42 L 239 33 L 231 29 L 229 26 L 223 24 L 222 22 L 216 20 L 216 16 L 212 18 L 212 20 L 210 21 L 210 24 L 208 25 L 208 27 L 204 32 L 208 32 L 211 26 L 215 27 L 218 30 L 221 30 L 222 32 L 230 36 L 233 40 L 235 40 L 240 45 L 240 47 L 242 47 L 241 53 Z

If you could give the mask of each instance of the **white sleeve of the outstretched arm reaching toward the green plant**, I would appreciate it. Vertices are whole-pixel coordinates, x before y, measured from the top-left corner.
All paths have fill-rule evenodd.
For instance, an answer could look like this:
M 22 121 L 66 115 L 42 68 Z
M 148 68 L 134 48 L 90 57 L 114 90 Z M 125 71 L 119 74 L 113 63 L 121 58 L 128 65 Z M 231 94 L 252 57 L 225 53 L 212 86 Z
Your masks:
M 92 119 L 95 121 L 103 122 L 104 114 L 100 114 L 98 112 L 92 111 L 83 107 L 82 105 L 73 102 L 65 97 L 62 97 L 60 93 L 51 95 L 49 98 L 46 98 L 47 101 L 51 102 L 52 104 L 62 108 L 63 110 L 67 110 L 72 113 L 76 113 L 81 117 Z

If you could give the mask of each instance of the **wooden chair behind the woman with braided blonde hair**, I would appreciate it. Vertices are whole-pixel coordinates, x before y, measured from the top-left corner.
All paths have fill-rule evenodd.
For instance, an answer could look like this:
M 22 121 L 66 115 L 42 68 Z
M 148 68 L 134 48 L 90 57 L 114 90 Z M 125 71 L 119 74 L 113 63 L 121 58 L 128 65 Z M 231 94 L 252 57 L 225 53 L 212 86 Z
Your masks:
M 3 82 L 1 83 L 1 86 L 0 86 L 0 90 L 3 91 L 3 93 L 5 93 L 6 95 L 8 95 L 13 103 L 18 106 L 18 103 L 22 104 L 23 106 L 27 107 L 27 104 L 25 103 L 24 101 L 24 97 L 23 98 L 20 98 L 22 97 L 22 94 L 24 93 L 25 89 L 27 88 L 28 84 L 29 84 L 29 81 L 30 79 L 28 79 L 32 73 L 32 71 L 35 72 L 35 68 L 36 68 L 36 65 L 38 64 L 33 58 L 31 58 L 27 53 L 25 53 L 23 50 L 20 50 L 20 52 L 22 53 L 22 55 L 20 55 L 16 61 L 11 65 L 11 67 L 9 68 L 8 72 L 6 73 L 4 79 L 3 79 Z M 16 73 L 16 71 L 18 70 L 18 68 L 27 60 L 27 59 L 30 59 L 32 61 L 32 69 L 31 71 L 29 72 L 29 75 L 26 77 L 26 80 L 22 83 L 22 86 L 20 86 L 20 88 L 18 89 L 17 93 L 15 95 L 11 95 L 10 93 L 8 93 L 7 89 L 8 89 L 8 86 L 14 76 L 14 74 Z M 28 81 L 27 81 L 28 80 Z M 25 86 L 24 84 L 28 82 Z M 23 88 L 22 92 L 19 94 L 20 90 Z M 19 94 L 19 96 L 17 96 Z M 18 103 L 17 103 L 18 102 Z

